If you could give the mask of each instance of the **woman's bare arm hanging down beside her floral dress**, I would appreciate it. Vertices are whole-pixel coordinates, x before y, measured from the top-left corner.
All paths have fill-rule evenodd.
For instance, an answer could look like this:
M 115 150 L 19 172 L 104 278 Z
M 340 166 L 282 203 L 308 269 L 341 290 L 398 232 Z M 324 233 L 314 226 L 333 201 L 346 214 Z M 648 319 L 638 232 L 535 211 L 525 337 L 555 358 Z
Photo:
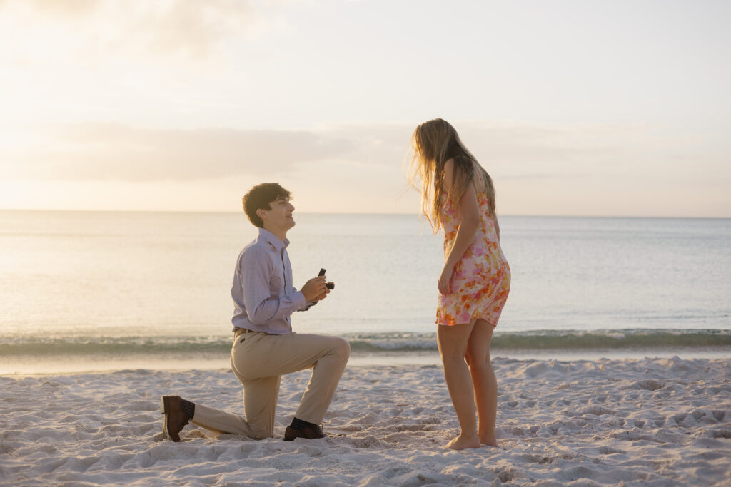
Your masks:
M 454 161 L 450 159 L 444 164 L 444 185 L 447 188 L 452 187 L 452 175 L 454 171 Z M 470 183 L 466 191 L 458 202 L 458 210 L 462 217 L 462 221 L 457 230 L 455 242 L 447 254 L 444 261 L 442 274 L 439 275 L 439 292 L 442 294 L 450 294 L 450 279 L 452 273 L 460 258 L 467 248 L 474 241 L 474 234 L 480 228 L 480 205 L 477 203 L 477 193 L 474 191 L 474 184 Z

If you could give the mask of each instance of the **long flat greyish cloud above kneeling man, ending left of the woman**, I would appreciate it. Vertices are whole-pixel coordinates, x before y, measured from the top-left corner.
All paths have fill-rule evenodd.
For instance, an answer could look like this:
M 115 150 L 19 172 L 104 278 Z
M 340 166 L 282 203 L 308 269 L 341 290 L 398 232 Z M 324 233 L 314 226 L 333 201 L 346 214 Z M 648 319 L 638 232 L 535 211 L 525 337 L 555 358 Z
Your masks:
M 149 181 L 269 175 L 349 150 L 352 144 L 344 139 L 310 131 L 154 130 L 85 123 L 56 129 L 42 145 L 0 147 L 6 161 L 0 177 Z

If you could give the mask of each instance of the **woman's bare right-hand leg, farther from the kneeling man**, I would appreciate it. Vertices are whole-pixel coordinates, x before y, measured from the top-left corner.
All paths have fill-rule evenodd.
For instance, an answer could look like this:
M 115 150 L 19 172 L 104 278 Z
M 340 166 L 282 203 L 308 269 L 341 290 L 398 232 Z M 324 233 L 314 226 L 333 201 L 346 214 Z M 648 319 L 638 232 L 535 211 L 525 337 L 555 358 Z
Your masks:
M 498 383 L 490 362 L 490 341 L 493 326 L 477 320 L 467 342 L 467 363 L 472 377 L 474 399 L 477 403 L 477 433 L 484 445 L 497 446 L 495 419 L 498 409 Z

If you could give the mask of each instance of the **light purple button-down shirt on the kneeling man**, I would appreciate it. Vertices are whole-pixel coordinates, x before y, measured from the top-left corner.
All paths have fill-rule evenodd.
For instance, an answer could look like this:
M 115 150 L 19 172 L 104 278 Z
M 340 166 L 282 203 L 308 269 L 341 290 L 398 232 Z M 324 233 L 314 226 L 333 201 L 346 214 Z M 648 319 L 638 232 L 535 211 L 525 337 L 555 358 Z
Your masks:
M 289 315 L 312 305 L 292 285 L 289 240 L 259 229 L 259 236 L 238 254 L 233 276 L 234 331 L 246 328 L 269 334 L 292 331 Z

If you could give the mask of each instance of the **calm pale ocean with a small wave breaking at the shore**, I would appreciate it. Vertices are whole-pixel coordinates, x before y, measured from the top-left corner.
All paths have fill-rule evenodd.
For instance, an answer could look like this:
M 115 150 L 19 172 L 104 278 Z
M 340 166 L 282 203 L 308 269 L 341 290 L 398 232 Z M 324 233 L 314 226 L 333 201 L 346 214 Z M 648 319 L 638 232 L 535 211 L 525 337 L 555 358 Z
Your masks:
M 352 361 L 433 361 L 442 235 L 416 215 L 299 214 L 292 316 Z M 504 216 L 493 356 L 731 356 L 731 220 Z M 243 213 L 0 211 L 0 374 L 227 367 Z M 438 358 L 437 358 L 438 360 Z

